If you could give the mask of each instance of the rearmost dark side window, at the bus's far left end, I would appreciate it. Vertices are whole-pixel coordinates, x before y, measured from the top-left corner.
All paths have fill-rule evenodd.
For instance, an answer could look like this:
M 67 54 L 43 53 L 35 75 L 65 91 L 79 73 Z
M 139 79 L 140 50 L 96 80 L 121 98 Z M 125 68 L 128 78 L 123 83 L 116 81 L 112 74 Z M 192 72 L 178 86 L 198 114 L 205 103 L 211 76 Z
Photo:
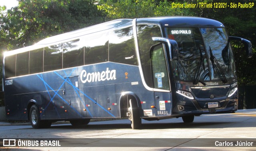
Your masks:
M 16 76 L 16 55 L 5 57 L 4 71 L 5 71 L 5 78 Z

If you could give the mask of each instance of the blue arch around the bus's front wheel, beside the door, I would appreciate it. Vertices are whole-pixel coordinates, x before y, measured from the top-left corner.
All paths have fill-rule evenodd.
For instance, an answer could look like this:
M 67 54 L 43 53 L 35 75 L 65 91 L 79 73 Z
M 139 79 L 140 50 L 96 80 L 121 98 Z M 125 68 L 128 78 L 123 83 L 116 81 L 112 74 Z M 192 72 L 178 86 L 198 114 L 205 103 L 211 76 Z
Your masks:
M 134 92 L 130 92 L 130 91 L 123 92 L 119 99 L 120 117 L 121 118 L 127 117 L 126 113 L 128 112 L 128 103 L 129 103 L 130 99 L 136 101 L 139 111 L 142 108 L 138 95 L 136 95 Z M 140 112 L 140 117 L 141 117 L 141 112 Z

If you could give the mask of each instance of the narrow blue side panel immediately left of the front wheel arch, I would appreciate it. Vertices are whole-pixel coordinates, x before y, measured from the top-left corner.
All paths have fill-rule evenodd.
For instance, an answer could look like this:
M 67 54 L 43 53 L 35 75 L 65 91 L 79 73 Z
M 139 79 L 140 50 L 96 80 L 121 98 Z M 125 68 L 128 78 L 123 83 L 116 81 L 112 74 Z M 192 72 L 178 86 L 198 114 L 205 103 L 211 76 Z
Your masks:
M 107 110 L 108 117 L 118 117 L 118 109 L 119 106 L 116 102 L 116 89 L 115 85 L 105 85 L 105 93 L 106 93 L 106 101 L 107 101 Z

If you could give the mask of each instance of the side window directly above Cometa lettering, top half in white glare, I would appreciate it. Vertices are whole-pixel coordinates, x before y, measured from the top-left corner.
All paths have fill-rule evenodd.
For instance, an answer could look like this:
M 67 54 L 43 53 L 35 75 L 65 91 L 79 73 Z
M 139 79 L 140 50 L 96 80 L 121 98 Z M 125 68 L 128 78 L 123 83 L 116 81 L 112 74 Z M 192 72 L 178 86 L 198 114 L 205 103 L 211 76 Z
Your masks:
M 108 36 L 106 32 L 88 34 L 82 39 L 84 42 L 84 62 L 97 64 L 108 61 Z

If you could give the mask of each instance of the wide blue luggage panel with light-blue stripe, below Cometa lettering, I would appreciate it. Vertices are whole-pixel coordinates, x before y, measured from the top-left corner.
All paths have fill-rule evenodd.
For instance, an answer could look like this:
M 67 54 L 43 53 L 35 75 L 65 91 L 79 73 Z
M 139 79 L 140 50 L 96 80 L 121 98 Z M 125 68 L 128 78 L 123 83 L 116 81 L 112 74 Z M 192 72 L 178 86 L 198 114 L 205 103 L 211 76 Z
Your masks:
M 87 117 L 108 117 L 105 86 L 84 87 Z

